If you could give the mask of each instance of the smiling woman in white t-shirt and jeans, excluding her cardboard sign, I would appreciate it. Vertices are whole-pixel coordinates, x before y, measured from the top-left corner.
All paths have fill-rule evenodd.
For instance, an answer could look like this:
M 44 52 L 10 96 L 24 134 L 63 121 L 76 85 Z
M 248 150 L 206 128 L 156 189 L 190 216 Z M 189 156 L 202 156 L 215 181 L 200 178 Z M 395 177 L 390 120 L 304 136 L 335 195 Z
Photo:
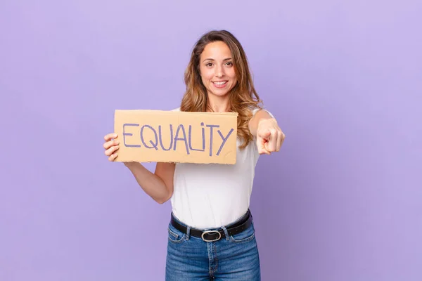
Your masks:
M 230 32 L 199 39 L 185 83 L 177 110 L 238 112 L 238 149 L 234 165 L 157 163 L 153 174 L 138 162 L 124 163 L 153 200 L 171 200 L 166 280 L 260 280 L 252 182 L 258 157 L 279 151 L 284 134 L 258 105 L 245 52 Z M 119 149 L 116 138 L 105 136 L 110 161 Z

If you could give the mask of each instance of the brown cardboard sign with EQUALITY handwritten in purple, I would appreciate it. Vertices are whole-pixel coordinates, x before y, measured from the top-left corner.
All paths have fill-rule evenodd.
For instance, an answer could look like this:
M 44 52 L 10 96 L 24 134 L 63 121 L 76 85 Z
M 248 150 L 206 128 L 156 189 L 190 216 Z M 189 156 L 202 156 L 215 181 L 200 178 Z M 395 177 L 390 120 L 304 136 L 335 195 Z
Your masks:
M 115 110 L 117 162 L 236 164 L 237 113 Z

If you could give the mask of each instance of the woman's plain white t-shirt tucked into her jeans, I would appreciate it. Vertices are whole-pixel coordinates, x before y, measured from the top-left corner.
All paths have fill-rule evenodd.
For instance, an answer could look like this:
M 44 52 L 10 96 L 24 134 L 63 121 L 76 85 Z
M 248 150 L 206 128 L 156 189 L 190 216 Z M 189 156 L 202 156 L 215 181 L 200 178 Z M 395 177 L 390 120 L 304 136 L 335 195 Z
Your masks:
M 236 164 L 176 163 L 170 199 L 174 216 L 201 229 L 236 221 L 248 211 L 259 157 L 254 138 L 243 150 L 237 148 Z

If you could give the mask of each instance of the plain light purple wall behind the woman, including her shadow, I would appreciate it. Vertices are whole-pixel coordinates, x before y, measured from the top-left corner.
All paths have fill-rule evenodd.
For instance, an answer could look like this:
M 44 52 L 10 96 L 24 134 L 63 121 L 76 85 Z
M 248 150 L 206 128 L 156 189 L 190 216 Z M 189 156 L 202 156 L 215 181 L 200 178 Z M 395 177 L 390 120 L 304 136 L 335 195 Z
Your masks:
M 422 4 L 394 2 L 1 1 L 0 280 L 164 280 L 170 202 L 103 136 L 178 107 L 211 29 L 286 133 L 252 194 L 263 280 L 421 280 Z

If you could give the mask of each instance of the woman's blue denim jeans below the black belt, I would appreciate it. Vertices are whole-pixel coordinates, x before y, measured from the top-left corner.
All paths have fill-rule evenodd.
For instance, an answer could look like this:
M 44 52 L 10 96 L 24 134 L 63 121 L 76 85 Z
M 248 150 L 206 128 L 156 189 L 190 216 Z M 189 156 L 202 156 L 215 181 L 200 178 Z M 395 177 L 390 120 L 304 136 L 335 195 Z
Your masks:
M 189 230 L 182 233 L 169 223 L 165 280 L 260 281 L 260 258 L 253 223 L 231 236 L 227 235 L 226 227 L 219 228 L 226 233 L 221 240 L 205 242 L 188 235 Z

